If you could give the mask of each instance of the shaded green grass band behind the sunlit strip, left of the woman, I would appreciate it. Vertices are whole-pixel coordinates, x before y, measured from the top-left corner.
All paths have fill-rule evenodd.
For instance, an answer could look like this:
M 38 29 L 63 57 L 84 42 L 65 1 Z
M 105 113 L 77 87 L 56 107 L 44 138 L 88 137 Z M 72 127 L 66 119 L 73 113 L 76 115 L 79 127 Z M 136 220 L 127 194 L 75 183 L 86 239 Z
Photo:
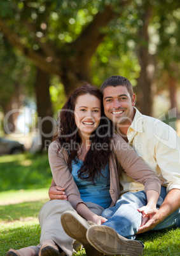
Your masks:
M 0 163 L 1 191 L 50 187 L 52 173 L 47 154 L 6 155 L 0 157 Z

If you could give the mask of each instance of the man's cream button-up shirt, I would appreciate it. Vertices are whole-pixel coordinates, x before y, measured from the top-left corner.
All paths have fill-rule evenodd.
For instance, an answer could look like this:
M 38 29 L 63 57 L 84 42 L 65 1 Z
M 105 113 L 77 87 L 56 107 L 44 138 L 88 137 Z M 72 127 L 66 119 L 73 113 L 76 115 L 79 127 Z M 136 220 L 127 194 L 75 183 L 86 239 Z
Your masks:
M 127 132 L 130 146 L 156 173 L 167 192 L 180 189 L 180 139 L 176 131 L 156 118 L 142 115 L 137 108 L 134 111 L 135 117 Z M 121 173 L 120 184 L 123 192 L 144 190 L 144 185 L 125 172 Z

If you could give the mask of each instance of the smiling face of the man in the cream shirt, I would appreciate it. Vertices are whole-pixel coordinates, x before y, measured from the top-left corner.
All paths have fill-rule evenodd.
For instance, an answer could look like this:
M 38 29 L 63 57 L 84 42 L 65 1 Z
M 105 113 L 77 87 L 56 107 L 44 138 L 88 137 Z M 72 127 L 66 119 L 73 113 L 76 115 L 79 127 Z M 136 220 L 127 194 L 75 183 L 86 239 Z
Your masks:
M 135 94 L 130 97 L 127 87 L 108 86 L 104 89 L 104 113 L 114 124 L 130 125 L 134 118 Z

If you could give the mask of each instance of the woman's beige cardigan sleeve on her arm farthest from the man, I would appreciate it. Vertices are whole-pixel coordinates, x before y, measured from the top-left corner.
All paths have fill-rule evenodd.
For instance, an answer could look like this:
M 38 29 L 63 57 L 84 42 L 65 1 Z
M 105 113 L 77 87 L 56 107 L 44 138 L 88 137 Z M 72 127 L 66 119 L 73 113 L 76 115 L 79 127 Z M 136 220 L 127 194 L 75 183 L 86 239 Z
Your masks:
M 48 159 L 52 171 L 53 179 L 56 185 L 66 188 L 66 196 L 76 210 L 78 203 L 83 203 L 80 192 L 74 181 L 73 175 L 67 166 L 67 152 L 64 148 L 60 148 L 57 141 L 53 141 L 48 149 Z M 58 153 L 57 153 L 58 152 Z

